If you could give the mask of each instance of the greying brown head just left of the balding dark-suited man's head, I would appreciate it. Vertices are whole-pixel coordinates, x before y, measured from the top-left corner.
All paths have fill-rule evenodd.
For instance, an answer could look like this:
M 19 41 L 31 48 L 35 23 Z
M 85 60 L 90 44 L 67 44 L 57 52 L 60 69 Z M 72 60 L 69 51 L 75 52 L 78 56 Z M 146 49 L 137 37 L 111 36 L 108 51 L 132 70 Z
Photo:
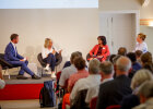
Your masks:
M 109 75 L 114 73 L 114 65 L 109 61 L 102 62 L 99 64 L 99 71 L 103 72 L 105 75 Z

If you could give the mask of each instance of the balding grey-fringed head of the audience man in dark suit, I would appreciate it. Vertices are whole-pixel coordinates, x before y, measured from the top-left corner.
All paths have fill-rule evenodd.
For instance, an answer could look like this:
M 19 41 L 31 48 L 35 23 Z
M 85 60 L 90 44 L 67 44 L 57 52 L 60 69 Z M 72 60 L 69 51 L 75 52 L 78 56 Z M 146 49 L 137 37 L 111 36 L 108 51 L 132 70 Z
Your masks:
M 131 69 L 131 61 L 127 57 L 120 57 L 116 62 L 116 73 L 118 75 L 128 75 L 129 70 Z

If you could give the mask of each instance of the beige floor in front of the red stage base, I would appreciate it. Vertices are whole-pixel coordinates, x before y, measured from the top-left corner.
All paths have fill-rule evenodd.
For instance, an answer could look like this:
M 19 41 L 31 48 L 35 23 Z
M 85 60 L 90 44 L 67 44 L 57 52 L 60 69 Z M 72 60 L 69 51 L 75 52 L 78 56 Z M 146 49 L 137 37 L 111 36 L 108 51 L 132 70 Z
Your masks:
M 1 109 L 56 109 L 39 108 L 39 100 L 0 100 Z

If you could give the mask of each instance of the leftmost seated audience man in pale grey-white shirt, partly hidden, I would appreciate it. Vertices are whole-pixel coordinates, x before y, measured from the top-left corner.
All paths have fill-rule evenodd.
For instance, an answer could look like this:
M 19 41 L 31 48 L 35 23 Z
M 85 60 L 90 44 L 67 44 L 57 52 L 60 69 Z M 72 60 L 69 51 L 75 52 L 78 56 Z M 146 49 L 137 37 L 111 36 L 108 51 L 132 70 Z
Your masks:
M 64 87 L 66 85 L 68 86 L 68 83 L 67 83 L 68 80 L 70 78 L 70 76 L 71 76 L 72 74 L 76 73 L 76 68 L 74 66 L 74 59 L 75 59 L 76 57 L 82 57 L 82 56 L 81 56 L 81 53 L 79 53 L 78 51 L 73 52 L 73 53 L 71 55 L 71 58 L 70 58 L 70 60 L 71 60 L 71 65 L 68 66 L 68 68 L 66 68 L 66 69 L 63 69 L 63 70 L 61 71 L 61 76 L 60 76 L 60 80 L 59 80 L 59 85 L 60 85 L 61 87 Z M 66 86 L 64 88 L 67 88 L 67 86 Z

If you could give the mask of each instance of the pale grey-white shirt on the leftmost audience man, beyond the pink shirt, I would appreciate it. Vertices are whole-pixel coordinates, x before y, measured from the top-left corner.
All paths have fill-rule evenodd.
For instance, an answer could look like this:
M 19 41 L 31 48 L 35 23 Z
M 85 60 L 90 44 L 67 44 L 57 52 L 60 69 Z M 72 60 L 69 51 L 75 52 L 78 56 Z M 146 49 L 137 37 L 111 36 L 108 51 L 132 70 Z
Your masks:
M 60 80 L 59 80 L 59 85 L 60 86 L 64 86 L 66 84 L 66 81 L 74 73 L 76 73 L 78 70 L 76 68 L 71 64 L 70 66 L 68 68 L 64 68 L 62 71 L 61 71 L 61 75 L 60 75 Z

